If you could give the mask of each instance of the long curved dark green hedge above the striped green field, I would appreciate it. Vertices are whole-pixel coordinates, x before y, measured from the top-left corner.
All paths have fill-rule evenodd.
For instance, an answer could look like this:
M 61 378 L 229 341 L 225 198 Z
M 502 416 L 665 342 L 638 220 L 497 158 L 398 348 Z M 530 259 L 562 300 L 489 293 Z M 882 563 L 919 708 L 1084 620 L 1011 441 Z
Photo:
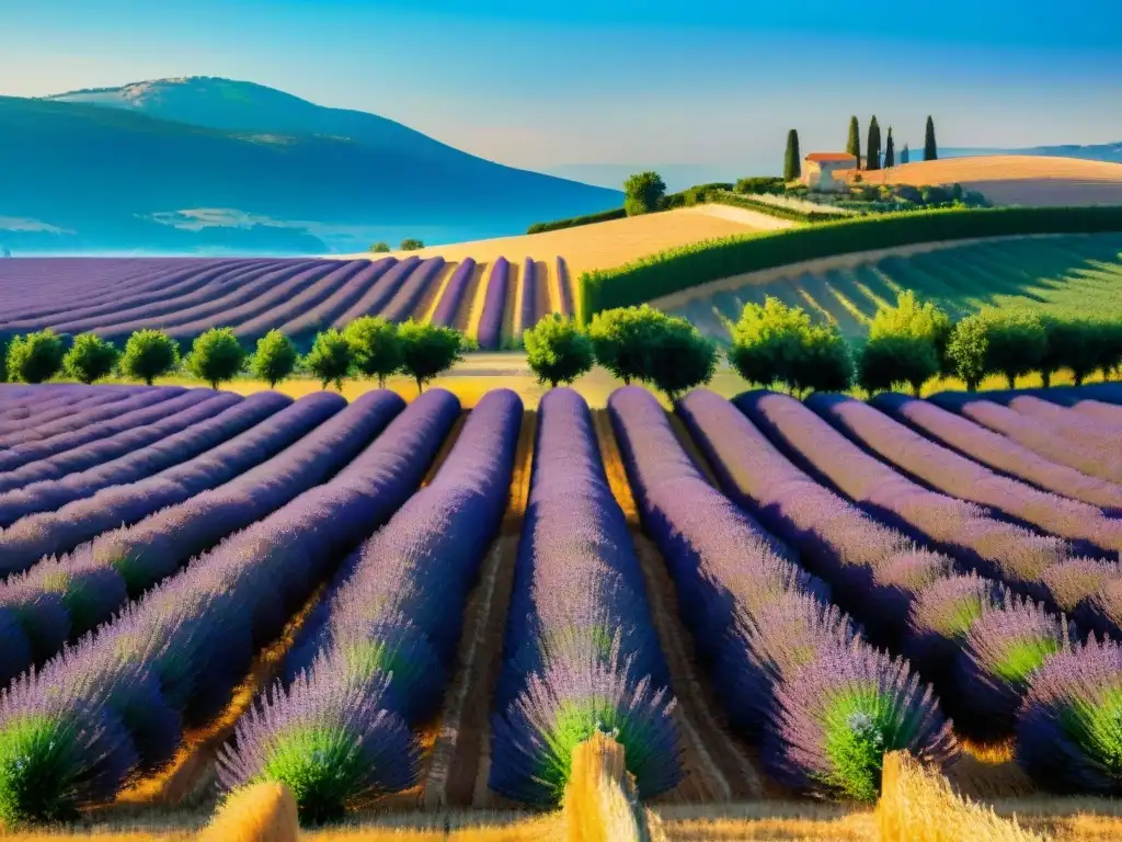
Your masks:
M 709 281 L 789 263 L 916 242 L 1030 234 L 1122 231 L 1122 207 L 934 210 L 738 235 L 660 251 L 581 275 L 581 322 Z

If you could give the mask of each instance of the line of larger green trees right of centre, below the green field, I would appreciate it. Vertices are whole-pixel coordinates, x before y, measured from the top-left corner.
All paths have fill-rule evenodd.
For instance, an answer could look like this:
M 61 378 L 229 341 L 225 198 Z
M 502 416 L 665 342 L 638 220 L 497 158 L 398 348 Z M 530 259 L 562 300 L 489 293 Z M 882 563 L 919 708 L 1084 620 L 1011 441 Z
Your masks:
M 1048 385 L 1067 369 L 1076 383 L 1122 367 L 1122 324 L 1061 319 L 1031 310 L 983 310 L 954 322 L 911 292 L 882 308 L 867 340 L 854 347 L 836 324 L 816 322 L 801 308 L 769 296 L 745 306 L 730 326 L 729 365 L 749 383 L 780 384 L 803 395 L 859 386 L 920 394 L 930 381 L 958 377 L 974 391 L 988 375 L 1039 373 Z M 599 364 L 624 383 L 646 383 L 671 400 L 708 383 L 716 346 L 687 320 L 649 306 L 597 313 L 588 331 L 554 315 L 526 331 L 527 361 L 539 382 L 572 383 Z

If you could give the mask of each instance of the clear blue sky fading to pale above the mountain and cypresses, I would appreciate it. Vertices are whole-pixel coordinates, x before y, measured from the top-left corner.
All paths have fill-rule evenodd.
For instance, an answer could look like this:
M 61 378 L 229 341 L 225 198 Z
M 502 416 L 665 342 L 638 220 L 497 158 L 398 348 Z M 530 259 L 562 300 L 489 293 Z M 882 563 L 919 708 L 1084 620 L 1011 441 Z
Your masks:
M 1122 2 L 0 0 L 0 93 L 259 82 L 504 163 L 780 165 L 850 113 L 922 141 L 1122 140 Z M 927 11 L 930 9 L 931 11 Z

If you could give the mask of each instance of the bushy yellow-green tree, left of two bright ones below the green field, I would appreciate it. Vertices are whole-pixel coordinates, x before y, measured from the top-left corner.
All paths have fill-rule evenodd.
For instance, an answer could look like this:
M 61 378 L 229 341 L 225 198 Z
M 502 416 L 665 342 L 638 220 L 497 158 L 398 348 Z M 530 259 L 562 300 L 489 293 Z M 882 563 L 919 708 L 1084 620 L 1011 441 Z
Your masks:
M 769 295 L 733 327 L 728 361 L 749 383 L 843 391 L 853 379 L 849 347 L 835 324 L 813 324 L 800 308 Z

